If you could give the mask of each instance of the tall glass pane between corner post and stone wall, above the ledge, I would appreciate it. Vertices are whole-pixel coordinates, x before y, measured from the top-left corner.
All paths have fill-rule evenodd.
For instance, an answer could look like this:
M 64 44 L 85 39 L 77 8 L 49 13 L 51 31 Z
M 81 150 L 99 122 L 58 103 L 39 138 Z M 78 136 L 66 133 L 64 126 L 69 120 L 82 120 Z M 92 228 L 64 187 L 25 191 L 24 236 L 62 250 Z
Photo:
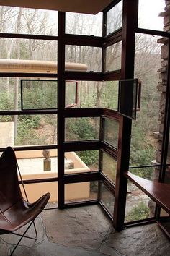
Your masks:
M 164 40 L 168 44 L 167 38 Z M 158 43 L 160 42 L 160 43 Z M 162 38 L 153 35 L 135 35 L 135 78 L 142 83 L 140 111 L 136 113 L 136 121 L 132 124 L 130 145 L 130 164 L 132 166 L 151 165 L 156 160 L 161 161 L 161 140 L 164 118 L 164 102 L 166 88 L 166 46 L 162 45 Z M 164 54 L 161 54 L 161 48 Z M 163 66 L 162 66 L 163 65 Z M 161 82 L 160 78 L 163 78 Z

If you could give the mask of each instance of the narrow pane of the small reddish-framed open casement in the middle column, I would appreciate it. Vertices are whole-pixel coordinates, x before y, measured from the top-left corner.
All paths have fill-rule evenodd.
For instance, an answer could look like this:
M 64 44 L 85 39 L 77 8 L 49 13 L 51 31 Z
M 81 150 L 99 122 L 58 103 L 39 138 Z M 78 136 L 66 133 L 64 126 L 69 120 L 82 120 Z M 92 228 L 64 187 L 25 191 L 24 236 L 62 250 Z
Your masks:
M 77 105 L 77 88 L 78 82 L 76 81 L 66 81 L 66 107 Z

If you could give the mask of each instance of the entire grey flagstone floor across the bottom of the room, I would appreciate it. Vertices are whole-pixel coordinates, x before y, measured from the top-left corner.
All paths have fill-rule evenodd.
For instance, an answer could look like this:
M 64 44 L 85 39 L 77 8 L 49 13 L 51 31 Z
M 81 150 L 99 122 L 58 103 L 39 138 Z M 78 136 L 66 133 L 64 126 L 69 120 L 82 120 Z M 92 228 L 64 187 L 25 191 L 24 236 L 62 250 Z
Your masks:
M 44 210 L 36 219 L 37 241 L 23 239 L 17 256 L 168 256 L 169 239 L 156 223 L 117 232 L 97 205 Z M 32 227 L 28 232 L 34 235 Z M 0 255 L 9 255 L 18 236 L 0 236 Z

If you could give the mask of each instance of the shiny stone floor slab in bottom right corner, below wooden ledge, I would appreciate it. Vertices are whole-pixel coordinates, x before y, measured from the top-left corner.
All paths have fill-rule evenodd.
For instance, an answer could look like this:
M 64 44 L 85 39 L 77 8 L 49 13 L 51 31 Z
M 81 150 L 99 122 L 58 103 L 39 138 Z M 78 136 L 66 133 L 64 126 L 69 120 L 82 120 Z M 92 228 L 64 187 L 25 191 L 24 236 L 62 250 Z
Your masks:
M 156 223 L 117 232 L 114 229 L 102 244 L 101 252 L 108 255 L 169 256 L 170 242 Z

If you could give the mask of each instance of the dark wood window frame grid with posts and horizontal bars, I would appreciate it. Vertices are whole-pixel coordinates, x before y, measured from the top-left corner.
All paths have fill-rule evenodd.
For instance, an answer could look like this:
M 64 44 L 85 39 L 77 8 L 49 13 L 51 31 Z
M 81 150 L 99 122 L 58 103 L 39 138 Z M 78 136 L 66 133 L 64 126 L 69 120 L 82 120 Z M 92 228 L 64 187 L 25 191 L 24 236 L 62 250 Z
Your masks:
M 58 181 L 58 208 L 66 208 L 64 202 L 64 186 L 68 183 L 84 182 L 99 180 L 109 188 L 115 195 L 115 209 L 114 216 L 112 217 L 113 224 L 117 231 L 123 229 L 125 223 L 125 203 L 127 195 L 128 175 L 126 171 L 129 168 L 130 158 L 130 136 L 132 121 L 126 116 L 119 117 L 119 148 L 117 153 L 112 147 L 109 147 L 101 140 L 94 140 L 91 142 L 64 142 L 64 126 L 66 117 L 85 117 L 85 116 L 102 116 L 106 115 L 109 118 L 115 118 L 114 111 L 110 111 L 106 108 L 65 108 L 65 81 L 66 80 L 84 80 L 84 81 L 115 81 L 120 79 L 133 79 L 134 77 L 134 59 L 135 59 L 135 33 L 144 33 L 150 35 L 160 35 L 170 38 L 169 33 L 146 30 L 138 28 L 138 0 L 128 1 L 123 0 L 123 20 L 122 28 L 106 36 L 105 22 L 107 22 L 107 11 L 111 9 L 119 1 L 112 1 L 112 4 L 104 10 L 104 22 L 103 22 L 103 36 L 94 37 L 86 35 L 68 35 L 65 34 L 65 13 L 58 12 L 58 36 L 50 35 L 21 35 L 12 33 L 0 33 L 0 38 L 24 38 L 24 39 L 37 39 L 37 40 L 57 40 L 58 41 L 58 74 L 32 74 L 24 73 L 24 77 L 42 77 L 42 78 L 55 78 L 58 79 L 58 108 L 55 110 L 29 110 L 29 111 L 0 111 L 1 115 L 24 115 L 24 114 L 58 114 L 58 143 L 57 145 L 38 145 L 27 147 L 14 147 L 15 150 L 33 150 L 33 149 L 58 149 L 58 178 L 48 180 L 34 180 L 25 181 L 25 183 L 35 182 L 53 182 Z M 104 73 L 104 58 L 106 55 L 107 46 L 111 46 L 114 43 L 122 41 L 122 65 L 120 70 Z M 77 46 L 95 46 L 102 48 L 102 72 L 68 72 L 65 71 L 65 46 L 77 45 Z M 169 58 L 170 59 L 170 58 Z M 23 77 L 23 73 L 0 73 L 0 77 Z M 170 74 L 168 74 L 168 88 L 170 88 Z M 164 143 L 163 154 L 161 158 L 161 176 L 160 182 L 164 182 L 164 168 L 166 166 L 166 155 L 168 147 L 169 136 L 169 111 L 170 111 L 170 93 L 167 90 L 166 93 L 166 118 L 164 124 Z M 100 171 L 89 174 L 64 174 L 64 153 L 71 150 L 105 150 L 115 159 L 117 159 L 117 179 L 116 185 L 103 176 Z M 4 150 L 4 148 L 0 148 Z M 89 203 L 98 203 L 99 200 L 94 200 Z M 82 202 L 81 204 L 87 204 L 88 202 Z M 80 205 L 74 203 L 72 206 Z M 157 210 L 156 220 L 159 220 L 160 209 Z M 161 223 L 161 221 L 160 221 Z

